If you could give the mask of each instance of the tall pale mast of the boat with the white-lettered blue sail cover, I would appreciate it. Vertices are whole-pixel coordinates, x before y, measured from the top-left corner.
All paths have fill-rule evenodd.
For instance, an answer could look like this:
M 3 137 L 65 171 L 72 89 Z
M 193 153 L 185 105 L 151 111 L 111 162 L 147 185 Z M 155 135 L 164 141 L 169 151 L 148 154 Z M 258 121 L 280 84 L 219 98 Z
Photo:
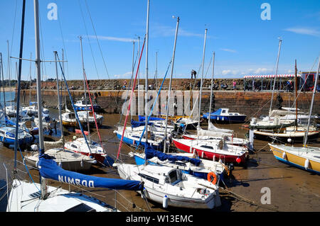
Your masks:
M 40 38 L 39 38 L 39 3 L 38 0 L 33 0 L 34 5 L 34 27 L 36 38 L 36 73 L 37 73 L 37 105 L 39 119 L 39 157 L 44 153 L 43 141 L 43 125 L 42 125 L 42 104 L 41 104 L 41 60 L 40 60 Z M 19 65 L 20 67 L 20 65 Z M 46 179 L 40 175 L 41 184 L 41 199 L 46 198 L 47 188 Z

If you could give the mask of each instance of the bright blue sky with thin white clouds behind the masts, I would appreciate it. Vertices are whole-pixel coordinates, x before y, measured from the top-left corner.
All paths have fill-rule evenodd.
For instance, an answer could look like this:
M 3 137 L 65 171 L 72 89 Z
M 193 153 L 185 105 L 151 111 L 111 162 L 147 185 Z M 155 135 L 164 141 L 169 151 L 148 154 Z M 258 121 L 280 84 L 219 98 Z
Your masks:
M 271 6 L 271 20 L 263 21 L 260 14 L 263 3 Z M 58 6 L 58 20 L 48 20 L 48 4 Z M 42 60 L 53 60 L 53 51 L 65 49 L 68 60 L 68 79 L 82 79 L 80 40 L 88 79 L 129 78 L 132 73 L 132 40 L 146 33 L 146 0 L 41 0 L 41 54 Z M 22 0 L 0 2 L 0 52 L 4 57 L 4 75 L 7 77 L 7 43 L 11 56 L 18 57 L 21 29 Z M 88 13 L 88 9 L 90 14 Z M 14 15 L 16 14 L 16 18 Z M 83 15 L 83 17 L 82 17 Z M 92 28 L 92 23 L 94 28 Z M 215 77 L 243 77 L 245 74 L 274 74 L 278 51 L 278 38 L 282 38 L 279 74 L 298 70 L 316 70 L 316 57 L 320 54 L 320 1 L 247 0 L 247 1 L 150 1 L 149 21 L 149 79 L 154 78 L 156 52 L 158 77 L 161 78 L 171 60 L 174 46 L 176 18 L 179 33 L 176 44 L 174 78 L 189 78 L 191 69 L 201 75 L 203 38 L 206 42 L 205 77 L 215 51 Z M 85 21 L 85 23 L 84 23 Z M 35 56 L 33 1 L 27 0 L 23 57 Z M 97 43 L 95 32 L 99 40 Z M 89 35 L 89 38 L 87 37 Z M 42 42 L 43 41 L 43 42 Z M 135 44 L 135 55 L 138 43 Z M 144 52 L 145 54 L 145 52 Z M 105 64 L 102 60 L 105 59 Z M 141 77 L 145 74 L 145 55 L 142 56 Z M 11 72 L 15 76 L 15 62 Z M 211 64 L 212 65 L 212 64 Z M 210 67 L 211 67 L 210 65 Z M 45 67 L 44 67 L 45 66 Z M 30 63 L 23 61 L 22 79 L 29 77 Z M 97 68 L 97 69 L 96 69 Z M 206 71 L 208 74 L 206 75 Z M 34 64 L 31 76 L 35 78 Z M 43 65 L 43 78 L 55 77 L 52 63 Z

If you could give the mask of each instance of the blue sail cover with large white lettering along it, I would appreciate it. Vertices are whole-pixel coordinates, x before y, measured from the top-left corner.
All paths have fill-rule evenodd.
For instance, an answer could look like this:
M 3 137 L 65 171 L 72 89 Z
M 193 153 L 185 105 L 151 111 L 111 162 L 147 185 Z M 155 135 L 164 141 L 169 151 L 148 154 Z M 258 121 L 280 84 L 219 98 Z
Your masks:
M 130 191 L 142 191 L 144 188 L 141 181 L 89 176 L 62 169 L 48 154 L 40 154 L 38 168 L 41 176 L 46 179 L 53 179 L 55 181 L 70 183 L 73 185 L 86 186 L 89 188 L 109 188 Z

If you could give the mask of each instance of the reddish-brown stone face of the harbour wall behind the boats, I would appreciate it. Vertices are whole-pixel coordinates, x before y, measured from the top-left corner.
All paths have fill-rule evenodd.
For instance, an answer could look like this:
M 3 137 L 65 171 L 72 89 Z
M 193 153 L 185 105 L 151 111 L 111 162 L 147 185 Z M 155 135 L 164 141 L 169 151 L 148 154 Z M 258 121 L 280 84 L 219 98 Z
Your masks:
M 193 110 L 193 115 L 198 113 L 198 104 L 195 104 L 199 91 L 188 90 L 174 90 L 171 92 L 170 112 L 171 114 L 189 115 L 191 113 L 192 106 L 196 106 Z M 41 91 L 43 106 L 56 108 L 58 106 L 58 94 L 54 89 L 43 89 Z M 73 101 L 79 100 L 84 95 L 82 90 L 70 90 L 70 94 Z M 106 113 L 120 113 L 122 108 L 127 110 L 129 104 L 129 96 L 131 91 L 124 90 L 90 90 L 92 100 L 96 100 L 97 103 L 104 109 Z M 156 90 L 148 91 L 151 101 L 148 102 L 148 108 L 151 108 L 156 100 Z M 277 93 L 274 93 L 272 102 L 273 109 L 277 108 L 279 101 L 277 101 Z M 36 101 L 36 90 L 25 89 L 21 90 L 21 101 L 28 103 L 31 96 L 31 101 Z M 96 96 L 96 98 L 95 98 Z M 157 99 L 155 113 L 166 113 L 166 98 L 168 91 L 161 91 L 161 95 Z M 281 105 L 283 107 L 294 107 L 295 94 L 291 92 L 279 92 L 279 96 L 282 98 Z M 270 100 L 272 92 L 270 91 L 213 91 L 212 109 L 229 108 L 230 112 L 244 113 L 248 117 L 252 115 L 267 115 L 270 109 Z M 302 92 L 298 96 L 297 105 L 300 111 L 309 112 L 311 103 L 311 92 Z M 132 115 L 143 114 L 143 99 L 144 90 L 134 92 L 134 98 L 132 98 Z M 68 108 L 70 106 L 70 98 L 68 91 L 62 91 L 61 101 L 64 104 L 67 102 Z M 138 104 L 140 101 L 140 105 Z M 191 106 L 191 107 L 190 107 Z M 201 98 L 201 113 L 208 112 L 210 106 L 210 90 L 205 89 L 202 91 Z M 140 107 L 140 108 L 139 108 Z M 320 115 L 320 94 L 316 93 L 314 101 L 313 113 Z

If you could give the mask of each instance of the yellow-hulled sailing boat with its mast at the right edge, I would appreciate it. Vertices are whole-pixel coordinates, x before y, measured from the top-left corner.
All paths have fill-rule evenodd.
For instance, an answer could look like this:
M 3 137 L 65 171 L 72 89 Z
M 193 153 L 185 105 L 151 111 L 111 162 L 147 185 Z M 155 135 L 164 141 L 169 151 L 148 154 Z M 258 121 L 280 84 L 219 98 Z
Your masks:
M 316 72 L 316 79 L 314 81 L 314 92 L 312 94 L 311 106 L 309 111 L 309 120 L 304 134 L 304 147 L 290 147 L 287 145 L 274 145 L 269 144 L 270 149 L 274 157 L 280 162 L 296 166 L 299 169 L 311 171 L 312 173 L 320 174 L 320 147 L 308 147 L 306 142 L 309 135 L 310 116 L 312 107 L 314 105 L 314 96 L 316 94 L 316 85 L 319 80 L 319 69 L 320 69 L 320 56 L 318 70 Z

